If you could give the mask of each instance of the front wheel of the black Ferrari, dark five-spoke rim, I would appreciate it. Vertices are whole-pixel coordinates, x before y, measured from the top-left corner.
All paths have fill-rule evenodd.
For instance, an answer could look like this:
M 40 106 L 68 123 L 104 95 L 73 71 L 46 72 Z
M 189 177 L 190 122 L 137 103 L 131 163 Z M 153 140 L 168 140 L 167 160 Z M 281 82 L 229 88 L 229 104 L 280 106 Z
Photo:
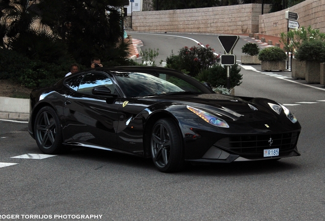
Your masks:
M 152 128 L 151 157 L 161 172 L 175 172 L 183 168 L 183 144 L 175 122 L 169 118 L 158 120 Z

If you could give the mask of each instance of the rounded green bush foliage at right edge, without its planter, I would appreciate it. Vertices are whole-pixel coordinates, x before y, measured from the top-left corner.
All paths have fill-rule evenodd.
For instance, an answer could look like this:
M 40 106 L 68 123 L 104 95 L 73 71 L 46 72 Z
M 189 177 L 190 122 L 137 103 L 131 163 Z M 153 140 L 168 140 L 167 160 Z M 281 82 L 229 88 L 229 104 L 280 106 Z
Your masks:
M 325 41 L 304 41 L 297 50 L 295 58 L 306 61 L 324 61 Z

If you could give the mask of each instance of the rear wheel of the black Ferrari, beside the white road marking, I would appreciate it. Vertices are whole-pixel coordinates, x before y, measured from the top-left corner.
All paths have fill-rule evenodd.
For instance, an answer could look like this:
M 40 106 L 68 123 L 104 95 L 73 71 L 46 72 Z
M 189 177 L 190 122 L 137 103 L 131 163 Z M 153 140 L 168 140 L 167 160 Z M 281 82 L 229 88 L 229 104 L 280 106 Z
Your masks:
M 53 108 L 44 106 L 39 110 L 35 119 L 34 132 L 37 146 L 42 152 L 57 154 L 62 151 L 62 130 Z

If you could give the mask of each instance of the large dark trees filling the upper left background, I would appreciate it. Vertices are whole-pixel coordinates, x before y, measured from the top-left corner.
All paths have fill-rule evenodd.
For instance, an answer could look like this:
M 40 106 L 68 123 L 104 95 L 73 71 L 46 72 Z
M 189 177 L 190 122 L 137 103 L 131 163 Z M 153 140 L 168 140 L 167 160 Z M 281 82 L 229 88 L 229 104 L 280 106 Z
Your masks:
M 123 2 L 0 0 L 0 35 L 7 39 L 0 47 L 49 62 L 68 58 L 88 66 L 94 56 L 123 61 L 129 53 L 121 40 Z

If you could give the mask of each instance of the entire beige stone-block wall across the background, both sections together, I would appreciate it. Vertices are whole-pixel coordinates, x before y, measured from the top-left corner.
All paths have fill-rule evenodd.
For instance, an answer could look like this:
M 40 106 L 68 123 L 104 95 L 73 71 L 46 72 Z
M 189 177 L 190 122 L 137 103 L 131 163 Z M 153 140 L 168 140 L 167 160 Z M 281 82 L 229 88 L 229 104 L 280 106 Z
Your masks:
M 196 32 L 280 36 L 287 32 L 285 11 L 269 13 L 270 5 L 244 4 L 199 9 L 134 12 L 132 29 L 143 32 Z M 306 0 L 290 8 L 299 15 L 300 27 L 325 33 L 325 0 Z

